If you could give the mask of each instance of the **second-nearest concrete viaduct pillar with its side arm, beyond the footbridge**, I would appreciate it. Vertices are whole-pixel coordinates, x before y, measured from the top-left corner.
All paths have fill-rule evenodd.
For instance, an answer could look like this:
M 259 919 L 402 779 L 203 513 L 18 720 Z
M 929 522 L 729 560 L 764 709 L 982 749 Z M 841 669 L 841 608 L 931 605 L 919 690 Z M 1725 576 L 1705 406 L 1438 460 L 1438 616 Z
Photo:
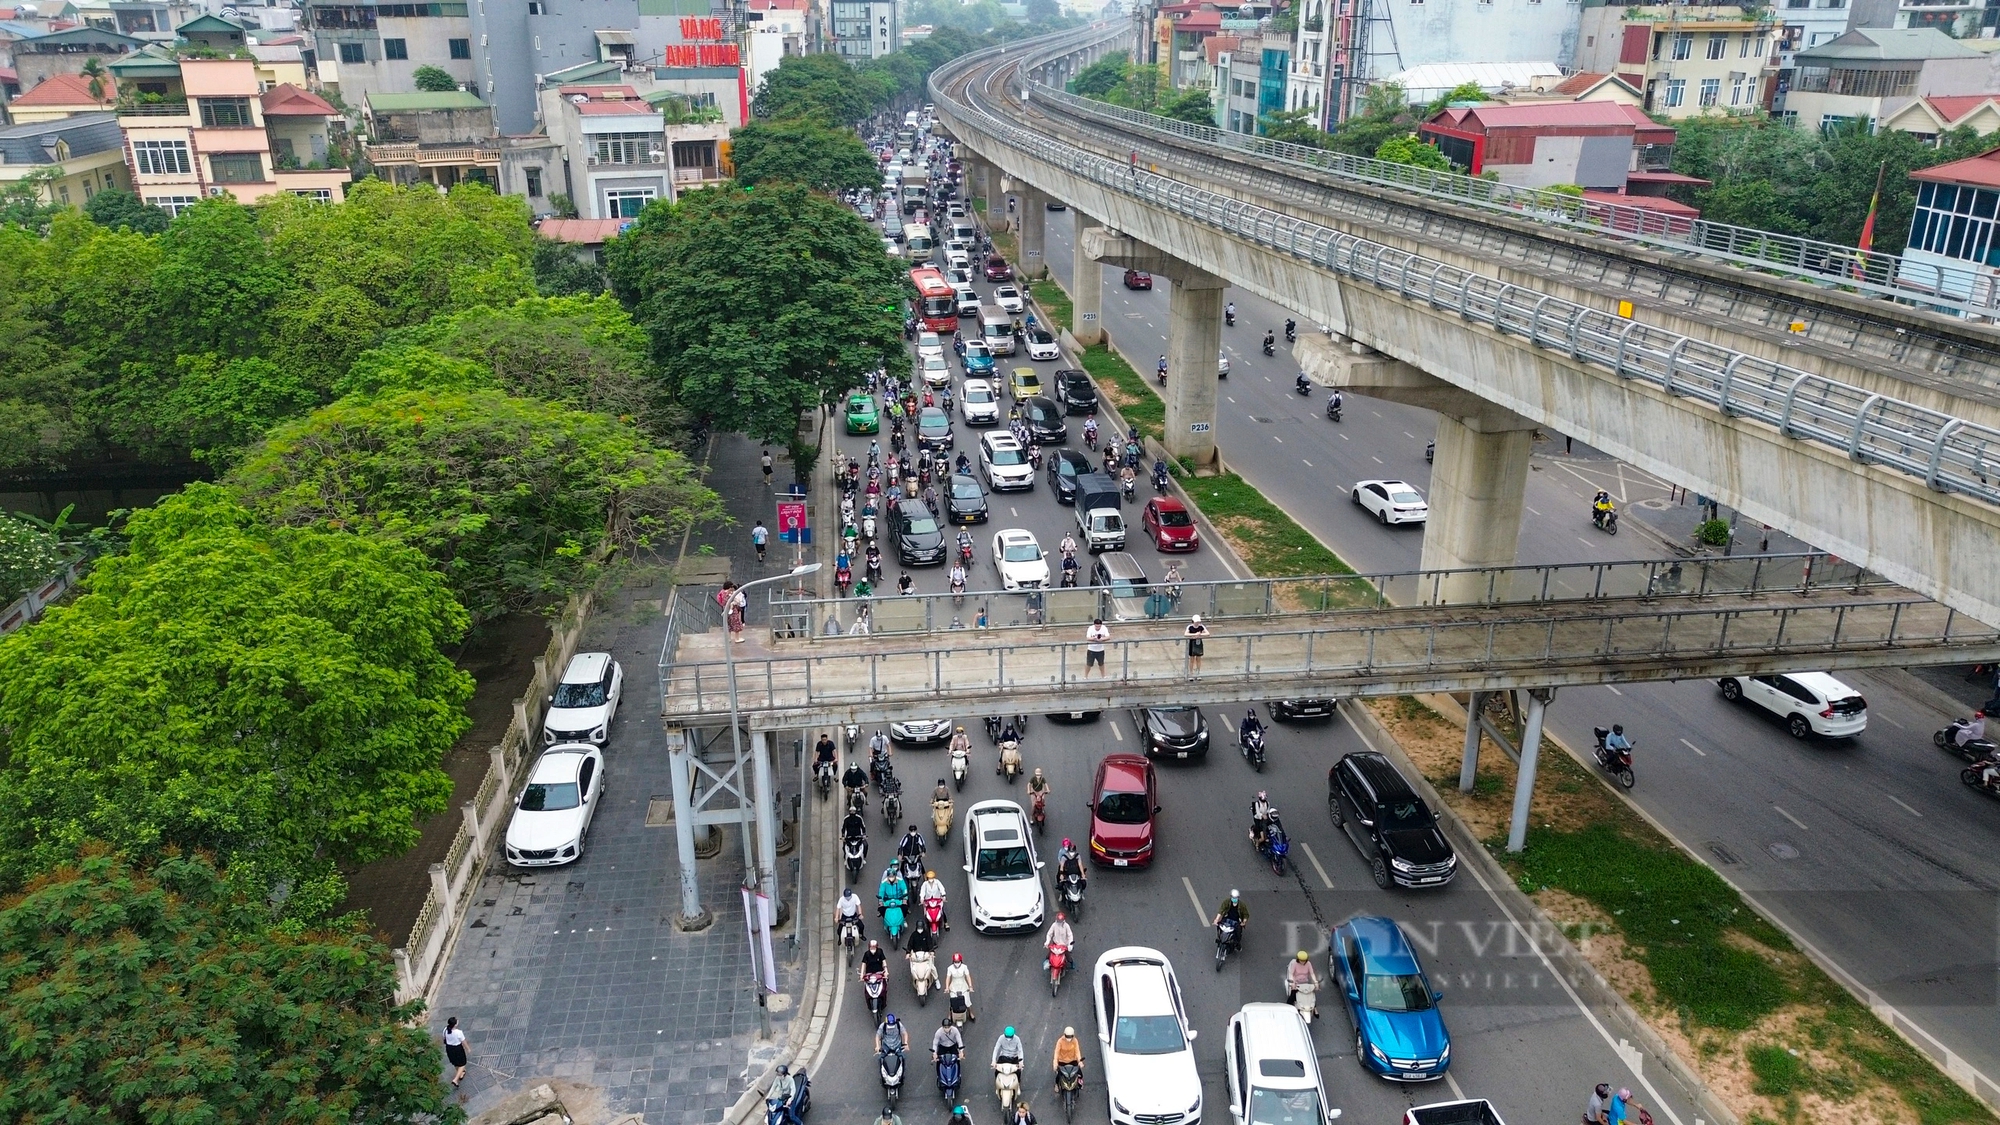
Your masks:
M 1196 464 L 1216 460 L 1216 356 L 1222 352 L 1222 290 L 1228 282 L 1138 238 L 1116 230 L 1086 230 L 1078 260 L 1146 270 L 1172 282 L 1166 324 L 1166 450 Z M 1140 374 L 1156 364 L 1132 356 Z

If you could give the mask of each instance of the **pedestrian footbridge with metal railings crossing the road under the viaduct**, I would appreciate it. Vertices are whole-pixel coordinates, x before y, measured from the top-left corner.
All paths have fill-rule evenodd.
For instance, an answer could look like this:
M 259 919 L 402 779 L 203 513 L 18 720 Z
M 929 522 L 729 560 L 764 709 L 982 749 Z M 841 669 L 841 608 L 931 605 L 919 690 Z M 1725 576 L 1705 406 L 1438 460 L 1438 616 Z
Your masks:
M 660 653 L 666 727 L 724 727 L 736 715 L 754 731 L 780 731 L 914 711 L 1106 711 L 2000 659 L 1992 627 L 1826 554 L 962 599 L 814 601 L 794 591 L 768 609 L 764 629 L 730 645 L 710 591 L 676 591 Z M 1194 615 L 1210 629 L 1198 661 L 1186 641 Z M 1094 617 L 1112 623 L 1102 671 L 1084 661 Z

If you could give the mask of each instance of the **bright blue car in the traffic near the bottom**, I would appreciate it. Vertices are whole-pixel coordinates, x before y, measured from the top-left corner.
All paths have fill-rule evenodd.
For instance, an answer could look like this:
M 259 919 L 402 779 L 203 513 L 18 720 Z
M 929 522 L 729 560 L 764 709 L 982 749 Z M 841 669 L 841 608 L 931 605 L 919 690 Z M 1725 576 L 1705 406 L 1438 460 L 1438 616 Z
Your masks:
M 1442 1079 L 1452 1033 L 1410 941 L 1392 919 L 1356 917 L 1334 927 L 1334 987 L 1354 1023 L 1362 1069 L 1400 1083 Z

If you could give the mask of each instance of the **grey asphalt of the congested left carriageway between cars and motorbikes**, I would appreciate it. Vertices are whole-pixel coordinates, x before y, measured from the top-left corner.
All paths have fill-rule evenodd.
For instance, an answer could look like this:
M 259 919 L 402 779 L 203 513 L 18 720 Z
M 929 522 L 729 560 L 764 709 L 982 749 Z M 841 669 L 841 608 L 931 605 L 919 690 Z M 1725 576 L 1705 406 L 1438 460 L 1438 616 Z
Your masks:
M 990 292 L 992 286 L 980 282 Z M 1162 294 L 1164 302 L 1164 294 Z M 1018 362 L 1028 362 L 1018 358 Z M 1016 360 L 1002 360 L 1002 370 Z M 1044 372 L 1074 366 L 1068 360 L 1034 364 Z M 1072 444 L 1080 442 L 1074 436 Z M 980 430 L 972 430 L 976 434 Z M 958 448 L 974 448 L 976 436 L 960 426 Z M 840 438 L 850 452 L 866 450 L 866 438 Z M 1414 446 L 1414 468 L 1422 468 L 1422 440 Z M 1142 486 L 1144 492 L 1144 486 Z M 1010 492 L 990 498 L 994 520 L 976 530 L 980 567 L 974 587 L 996 581 L 988 542 L 1000 526 L 1032 530 L 1044 548 L 1054 548 L 1070 526 L 1072 510 L 1060 506 L 1038 478 L 1034 492 Z M 1128 512 L 1132 506 L 1128 506 Z M 1374 528 L 1374 524 L 1368 524 Z M 1410 538 L 1414 544 L 1416 540 Z M 1158 577 L 1164 567 L 1158 552 L 1136 542 L 1134 554 Z M 1182 556 L 1188 581 L 1222 579 L 1224 569 L 1210 548 Z M 900 569 L 886 562 L 886 589 L 894 589 Z M 914 569 L 916 589 L 944 589 L 944 571 Z M 1006 599 L 1018 595 L 994 595 Z M 1078 637 L 1080 641 L 1080 637 Z M 1086 917 L 1078 925 L 1078 965 L 1088 971 L 1104 949 L 1114 945 L 1150 945 L 1166 953 L 1182 981 L 1192 1025 L 1200 1033 L 1196 1057 L 1204 1081 L 1204 1117 L 1228 1123 L 1222 1081 L 1220 1043 L 1228 1017 L 1250 1001 L 1282 1001 L 1280 975 L 1286 959 L 1300 947 L 1316 953 L 1316 965 L 1326 975 L 1326 959 L 1318 929 L 1356 913 L 1396 917 L 1420 943 L 1432 983 L 1444 991 L 1444 1015 L 1452 1029 L 1452 1069 L 1440 1083 L 1404 1087 L 1364 1075 L 1354 1061 L 1354 1033 L 1334 1007 L 1322 1009 L 1316 1041 L 1332 1105 L 1346 1111 L 1348 1121 L 1394 1121 L 1402 1109 L 1426 1101 L 1448 1101 L 1462 1093 L 1492 1099 L 1510 1121 L 1558 1121 L 1580 1113 L 1582 1099 L 1596 1081 L 1640 1087 L 1632 1071 L 1618 1059 L 1612 1043 L 1596 1021 L 1570 997 L 1548 967 L 1520 941 L 1498 901 L 1482 889 L 1476 877 L 1460 879 L 1428 893 L 1384 893 L 1374 887 L 1368 869 L 1338 835 L 1326 817 L 1326 769 L 1348 751 L 1362 749 L 1360 739 L 1344 723 L 1278 727 L 1272 733 L 1272 763 L 1264 775 L 1234 753 L 1228 731 L 1242 709 L 1230 715 L 1210 715 L 1216 727 L 1214 749 L 1204 763 L 1162 765 L 1158 861 L 1148 871 L 1094 871 L 1086 899 Z M 1268 713 L 1268 711 L 1266 711 Z M 978 717 L 954 717 L 974 733 L 974 771 L 958 795 L 958 809 L 974 801 L 1006 797 L 1026 807 L 1022 785 L 1006 785 L 992 773 L 992 749 Z M 1056 725 L 1042 717 L 1030 721 L 1024 757 L 1030 769 L 1040 767 L 1054 783 L 1050 825 L 1038 841 L 1042 857 L 1054 861 L 1064 835 L 1082 841 L 1088 831 L 1088 785 L 1098 759 L 1114 751 L 1132 751 L 1134 723 L 1126 713 L 1108 713 L 1096 723 Z M 898 775 L 908 793 L 924 795 L 934 779 L 948 773 L 944 751 L 898 751 Z M 1296 869 L 1284 877 L 1272 875 L 1252 851 L 1248 831 L 1250 797 L 1266 789 L 1286 811 L 1286 825 L 1296 841 Z M 880 873 L 894 849 L 896 831 L 872 819 L 874 839 L 870 861 Z M 954 827 L 948 855 L 934 853 L 932 867 L 940 871 L 952 893 L 954 917 L 960 923 L 944 935 L 942 957 L 964 953 L 978 985 L 974 1009 L 980 1019 L 968 1025 L 970 1059 L 964 1101 L 978 1121 L 994 1121 L 998 1107 L 984 1059 L 1000 1029 L 1012 1023 L 1028 1043 L 1034 1063 L 1028 1089 L 1030 1101 L 1044 1121 L 1056 1113 L 1048 1097 L 1044 1073 L 1054 1037 L 1072 1025 L 1084 1037 L 1092 1059 L 1086 1079 L 1084 1121 L 1104 1121 L 1106 1105 L 1096 1083 L 1094 1017 L 1088 1003 L 1086 977 L 1072 977 L 1060 997 L 1048 995 L 1042 975 L 1040 935 L 980 937 L 964 921 L 966 877 L 962 829 Z M 864 897 L 872 901 L 874 877 Z M 1052 893 L 1052 869 L 1044 871 L 1044 887 Z M 1222 971 L 1212 969 L 1214 945 L 1208 917 L 1218 901 L 1240 889 L 1252 907 L 1252 929 L 1242 957 L 1232 957 Z M 1052 911 L 1050 911 L 1052 913 Z M 870 933 L 880 925 L 870 919 Z M 826 1063 L 814 1075 L 816 1101 L 834 1105 L 844 1119 L 872 1113 L 880 1107 L 880 1083 L 870 1057 L 872 1021 L 862 989 L 848 977 L 838 997 L 840 1023 L 830 1041 Z M 890 1011 L 912 1021 L 920 1041 L 928 1043 L 944 1013 L 942 1001 L 918 1009 L 900 957 L 892 961 Z M 1644 1067 L 1658 1073 L 1658 1063 Z M 1652 1097 L 1642 1091 L 1642 1101 Z M 1668 1103 L 1662 1123 L 1692 1125 L 1688 1105 Z M 822 1109 L 824 1111 L 824 1109 Z M 906 1121 L 932 1115 L 942 1119 L 946 1107 L 938 1099 L 928 1053 L 910 1069 L 910 1087 L 902 1103 Z

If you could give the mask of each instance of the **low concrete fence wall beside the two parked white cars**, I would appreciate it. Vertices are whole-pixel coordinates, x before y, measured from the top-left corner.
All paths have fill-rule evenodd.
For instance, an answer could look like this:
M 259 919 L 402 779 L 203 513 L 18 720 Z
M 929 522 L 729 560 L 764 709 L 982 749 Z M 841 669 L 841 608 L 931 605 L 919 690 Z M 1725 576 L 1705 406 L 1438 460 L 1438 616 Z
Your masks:
M 550 631 L 548 651 L 534 659 L 534 679 L 514 701 L 514 721 L 498 743 L 488 747 L 490 765 L 472 801 L 458 807 L 464 823 L 444 853 L 444 863 L 430 865 L 430 895 L 410 927 L 410 943 L 394 951 L 396 1003 L 418 997 L 434 999 L 444 979 L 444 961 L 458 941 L 458 927 L 472 905 L 472 889 L 486 873 L 494 837 L 506 831 L 514 807 L 514 787 L 528 757 L 542 747 L 542 703 L 562 677 L 590 621 L 592 597 L 570 597 L 562 619 Z

